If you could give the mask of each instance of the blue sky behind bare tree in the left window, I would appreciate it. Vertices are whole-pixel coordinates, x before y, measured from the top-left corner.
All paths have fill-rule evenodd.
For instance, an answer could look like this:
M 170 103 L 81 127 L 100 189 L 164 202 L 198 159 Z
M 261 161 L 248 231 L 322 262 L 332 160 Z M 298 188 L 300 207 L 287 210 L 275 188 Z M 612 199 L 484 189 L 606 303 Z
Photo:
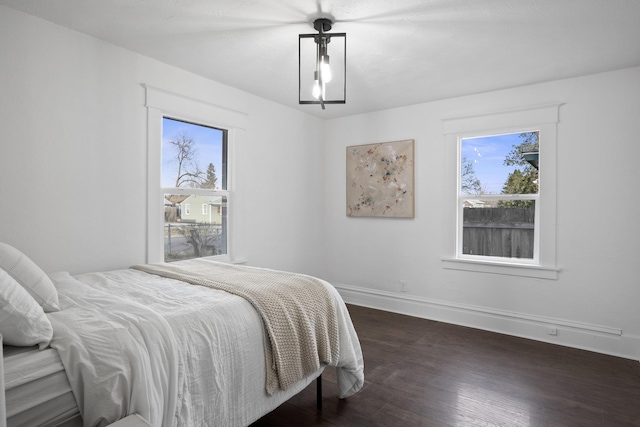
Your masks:
M 184 132 L 193 138 L 200 170 L 206 172 L 209 163 L 216 169 L 218 181 L 216 186 L 222 185 L 222 140 L 223 131 L 206 126 L 194 125 L 164 118 L 162 120 L 162 187 L 173 187 L 176 183 L 177 162 L 175 148 L 168 143 L 171 139 Z

